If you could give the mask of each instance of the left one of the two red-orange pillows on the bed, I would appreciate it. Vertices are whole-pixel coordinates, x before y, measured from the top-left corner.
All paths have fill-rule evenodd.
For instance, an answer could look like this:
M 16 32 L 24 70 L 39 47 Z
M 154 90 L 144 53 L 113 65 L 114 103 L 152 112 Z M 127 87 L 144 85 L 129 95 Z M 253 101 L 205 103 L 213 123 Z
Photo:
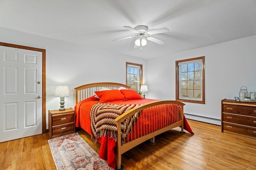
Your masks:
M 100 103 L 126 100 L 120 90 L 103 90 L 95 93 L 100 98 Z

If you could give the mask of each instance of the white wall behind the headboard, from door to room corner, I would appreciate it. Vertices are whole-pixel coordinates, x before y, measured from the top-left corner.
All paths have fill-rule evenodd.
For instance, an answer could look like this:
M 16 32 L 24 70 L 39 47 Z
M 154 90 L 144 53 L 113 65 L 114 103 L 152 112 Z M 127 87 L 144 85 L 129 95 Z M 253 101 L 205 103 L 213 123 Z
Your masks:
M 143 81 L 147 82 L 147 61 L 100 49 L 84 47 L 0 27 L 0 41 L 46 49 L 46 110 L 60 108 L 60 98 L 54 97 L 56 85 L 69 86 L 70 97 L 65 107 L 75 106 L 74 88 L 94 82 L 126 84 L 126 62 L 143 64 Z M 48 112 L 46 113 L 48 127 Z M 47 128 L 48 129 L 48 128 Z

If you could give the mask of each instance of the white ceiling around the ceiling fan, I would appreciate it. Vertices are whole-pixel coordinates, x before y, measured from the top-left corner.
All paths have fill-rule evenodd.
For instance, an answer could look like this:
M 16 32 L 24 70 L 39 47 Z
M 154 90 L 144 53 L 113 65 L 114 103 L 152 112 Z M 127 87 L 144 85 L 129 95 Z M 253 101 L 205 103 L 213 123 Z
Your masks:
M 112 41 L 137 25 L 166 43 Z M 0 27 L 150 59 L 256 35 L 256 0 L 0 0 Z

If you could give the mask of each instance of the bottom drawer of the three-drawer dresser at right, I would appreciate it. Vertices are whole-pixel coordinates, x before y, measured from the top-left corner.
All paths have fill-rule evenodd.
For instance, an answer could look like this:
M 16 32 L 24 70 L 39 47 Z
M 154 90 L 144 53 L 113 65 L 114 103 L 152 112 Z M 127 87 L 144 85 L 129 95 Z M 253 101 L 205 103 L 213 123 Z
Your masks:
M 256 137 L 256 128 L 223 122 L 223 131 Z

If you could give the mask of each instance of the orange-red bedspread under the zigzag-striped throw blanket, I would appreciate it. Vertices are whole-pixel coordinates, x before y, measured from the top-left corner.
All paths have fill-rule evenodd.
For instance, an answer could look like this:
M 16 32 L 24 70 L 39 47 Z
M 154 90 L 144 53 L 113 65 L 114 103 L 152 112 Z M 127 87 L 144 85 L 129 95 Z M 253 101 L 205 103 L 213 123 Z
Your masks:
M 153 99 L 143 99 L 143 100 L 127 100 L 127 101 L 121 101 L 121 102 L 108 102 L 111 104 L 145 104 L 148 102 L 154 102 L 158 100 Z M 76 127 L 81 127 L 84 129 L 87 133 L 92 135 L 91 131 L 91 120 L 90 120 L 90 109 L 94 104 L 97 104 L 99 102 L 98 98 L 95 98 L 94 96 L 83 100 L 76 104 L 75 110 L 76 110 Z M 140 128 L 140 127 L 139 127 Z M 136 127 L 134 127 L 136 129 Z M 158 128 L 157 128 L 158 129 Z M 187 130 L 189 133 L 194 134 L 188 125 L 188 122 L 186 121 L 186 118 L 184 117 L 184 129 Z M 129 136 L 130 138 L 130 136 Z M 100 146 L 100 152 L 99 156 L 100 158 L 107 160 L 108 165 L 112 168 L 115 168 L 116 161 L 115 161 L 115 146 L 116 142 L 114 139 L 106 136 L 102 137 L 98 140 L 101 143 Z

